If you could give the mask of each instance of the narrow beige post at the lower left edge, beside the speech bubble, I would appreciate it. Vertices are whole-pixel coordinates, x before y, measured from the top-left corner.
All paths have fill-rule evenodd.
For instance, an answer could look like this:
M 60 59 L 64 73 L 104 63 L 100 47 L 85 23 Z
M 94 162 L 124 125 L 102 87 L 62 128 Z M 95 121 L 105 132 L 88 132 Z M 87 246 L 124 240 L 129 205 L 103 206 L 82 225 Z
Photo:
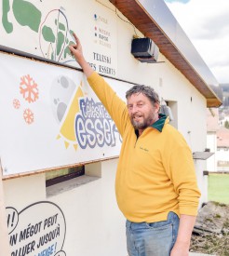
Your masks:
M 0 159 L 0 256 L 10 256 L 2 174 L 3 169 Z

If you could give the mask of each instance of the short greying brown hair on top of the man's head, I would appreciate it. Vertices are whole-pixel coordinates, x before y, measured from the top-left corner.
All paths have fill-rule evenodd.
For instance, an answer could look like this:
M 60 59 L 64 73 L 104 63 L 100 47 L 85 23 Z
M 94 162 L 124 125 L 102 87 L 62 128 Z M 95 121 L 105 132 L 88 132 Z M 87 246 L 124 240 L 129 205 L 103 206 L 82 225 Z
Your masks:
M 155 105 L 155 103 L 160 104 L 159 96 L 155 92 L 155 89 L 147 86 L 138 85 L 128 89 L 126 92 L 126 99 L 128 100 L 131 95 L 139 93 L 142 93 L 144 96 L 146 96 L 153 105 Z

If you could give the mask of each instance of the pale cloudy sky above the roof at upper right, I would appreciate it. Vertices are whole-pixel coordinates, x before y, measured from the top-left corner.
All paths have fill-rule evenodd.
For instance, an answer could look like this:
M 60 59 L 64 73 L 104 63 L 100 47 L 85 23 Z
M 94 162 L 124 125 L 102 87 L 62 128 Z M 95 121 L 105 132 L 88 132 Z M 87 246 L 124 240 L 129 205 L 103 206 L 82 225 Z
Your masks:
M 165 0 L 220 84 L 229 83 L 229 0 Z

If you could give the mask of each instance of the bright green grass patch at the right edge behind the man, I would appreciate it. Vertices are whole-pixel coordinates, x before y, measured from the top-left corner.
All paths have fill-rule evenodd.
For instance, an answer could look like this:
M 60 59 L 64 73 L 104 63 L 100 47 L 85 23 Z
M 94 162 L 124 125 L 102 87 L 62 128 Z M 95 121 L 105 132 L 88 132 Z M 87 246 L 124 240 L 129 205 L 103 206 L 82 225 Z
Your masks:
M 229 204 L 229 174 L 209 173 L 209 201 Z

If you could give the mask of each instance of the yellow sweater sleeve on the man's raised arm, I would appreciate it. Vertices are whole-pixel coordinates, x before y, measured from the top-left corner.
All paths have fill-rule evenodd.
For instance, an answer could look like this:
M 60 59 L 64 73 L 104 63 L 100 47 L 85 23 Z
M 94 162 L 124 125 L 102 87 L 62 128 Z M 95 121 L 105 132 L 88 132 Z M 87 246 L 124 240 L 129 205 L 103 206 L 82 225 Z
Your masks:
M 111 115 L 114 123 L 123 137 L 124 130 L 128 121 L 127 104 L 122 101 L 100 74 L 94 72 L 88 77 L 88 83 L 94 90 L 101 103 Z

